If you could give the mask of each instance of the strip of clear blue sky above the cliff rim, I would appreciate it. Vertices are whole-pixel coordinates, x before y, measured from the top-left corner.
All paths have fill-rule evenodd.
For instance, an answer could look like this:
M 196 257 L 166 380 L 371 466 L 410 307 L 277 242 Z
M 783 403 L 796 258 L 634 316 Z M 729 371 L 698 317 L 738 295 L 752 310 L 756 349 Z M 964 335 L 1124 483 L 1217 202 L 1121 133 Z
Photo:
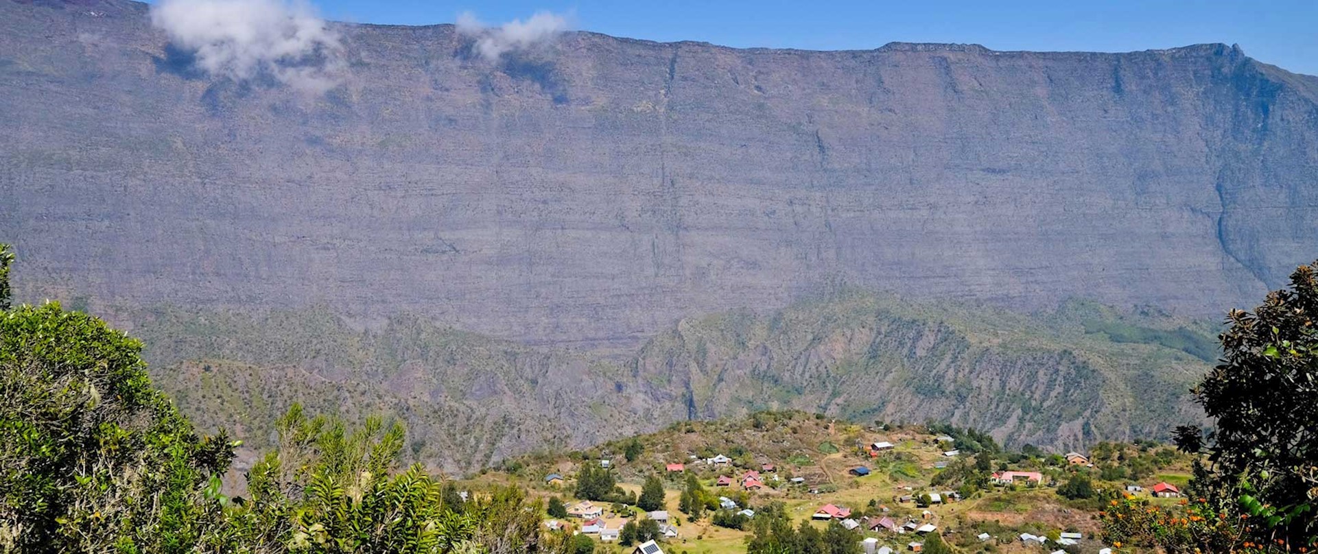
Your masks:
M 974 42 L 995 50 L 1130 51 L 1199 42 L 1318 75 L 1318 0 L 1278 1 L 608 1 L 312 0 L 333 20 L 428 25 L 472 11 L 488 24 L 536 11 L 573 14 L 573 28 L 654 41 L 813 50 L 892 41 Z

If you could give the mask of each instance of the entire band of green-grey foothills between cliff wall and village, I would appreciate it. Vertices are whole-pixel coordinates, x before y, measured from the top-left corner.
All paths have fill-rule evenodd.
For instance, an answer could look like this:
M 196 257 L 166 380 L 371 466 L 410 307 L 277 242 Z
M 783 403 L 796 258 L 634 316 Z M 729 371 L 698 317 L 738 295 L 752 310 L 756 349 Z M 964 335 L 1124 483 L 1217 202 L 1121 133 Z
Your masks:
M 1199 417 L 1185 391 L 1207 368 L 1198 345 L 1211 341 L 1199 324 L 1086 303 L 1025 316 L 859 291 L 683 320 L 622 357 L 407 316 L 357 330 L 324 307 L 132 318 L 157 380 L 202 425 L 264 446 L 268 422 L 295 400 L 385 413 L 407 421 L 418 459 L 451 471 L 784 408 L 949 421 L 1012 445 L 1161 437 Z

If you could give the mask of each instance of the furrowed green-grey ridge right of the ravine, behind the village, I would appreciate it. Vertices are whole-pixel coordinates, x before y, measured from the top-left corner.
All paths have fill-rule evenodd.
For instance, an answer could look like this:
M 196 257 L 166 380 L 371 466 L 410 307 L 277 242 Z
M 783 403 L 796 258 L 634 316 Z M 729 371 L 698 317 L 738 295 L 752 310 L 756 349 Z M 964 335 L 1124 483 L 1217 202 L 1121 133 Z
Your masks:
M 800 408 L 1068 446 L 1164 436 L 1169 421 L 1198 417 L 1186 391 L 1207 370 L 1197 355 L 1213 340 L 1205 328 L 1078 301 L 1025 316 L 845 292 L 764 316 L 683 321 L 642 349 L 635 368 L 681 391 L 695 417 Z

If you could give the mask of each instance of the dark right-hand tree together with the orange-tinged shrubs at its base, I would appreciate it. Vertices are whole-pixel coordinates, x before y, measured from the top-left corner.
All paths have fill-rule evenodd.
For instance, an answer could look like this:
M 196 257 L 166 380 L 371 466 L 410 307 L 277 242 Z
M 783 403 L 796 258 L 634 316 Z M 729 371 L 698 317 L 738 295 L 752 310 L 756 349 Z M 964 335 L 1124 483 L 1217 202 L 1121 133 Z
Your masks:
M 1194 476 L 1181 507 L 1112 501 L 1108 541 L 1189 551 L 1318 546 L 1318 262 L 1253 313 L 1231 311 L 1223 359 L 1193 393 L 1215 425 L 1178 428 Z M 1206 463 L 1205 463 L 1206 462 Z

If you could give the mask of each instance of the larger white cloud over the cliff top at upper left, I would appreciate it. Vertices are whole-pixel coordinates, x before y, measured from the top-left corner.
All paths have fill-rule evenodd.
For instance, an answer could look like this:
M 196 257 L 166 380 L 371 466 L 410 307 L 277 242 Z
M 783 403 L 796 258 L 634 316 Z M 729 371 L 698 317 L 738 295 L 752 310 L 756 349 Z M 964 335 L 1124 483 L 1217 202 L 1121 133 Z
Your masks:
M 315 9 L 290 0 L 161 0 L 152 24 L 196 66 L 235 80 L 269 74 L 303 92 L 339 83 L 343 43 Z

